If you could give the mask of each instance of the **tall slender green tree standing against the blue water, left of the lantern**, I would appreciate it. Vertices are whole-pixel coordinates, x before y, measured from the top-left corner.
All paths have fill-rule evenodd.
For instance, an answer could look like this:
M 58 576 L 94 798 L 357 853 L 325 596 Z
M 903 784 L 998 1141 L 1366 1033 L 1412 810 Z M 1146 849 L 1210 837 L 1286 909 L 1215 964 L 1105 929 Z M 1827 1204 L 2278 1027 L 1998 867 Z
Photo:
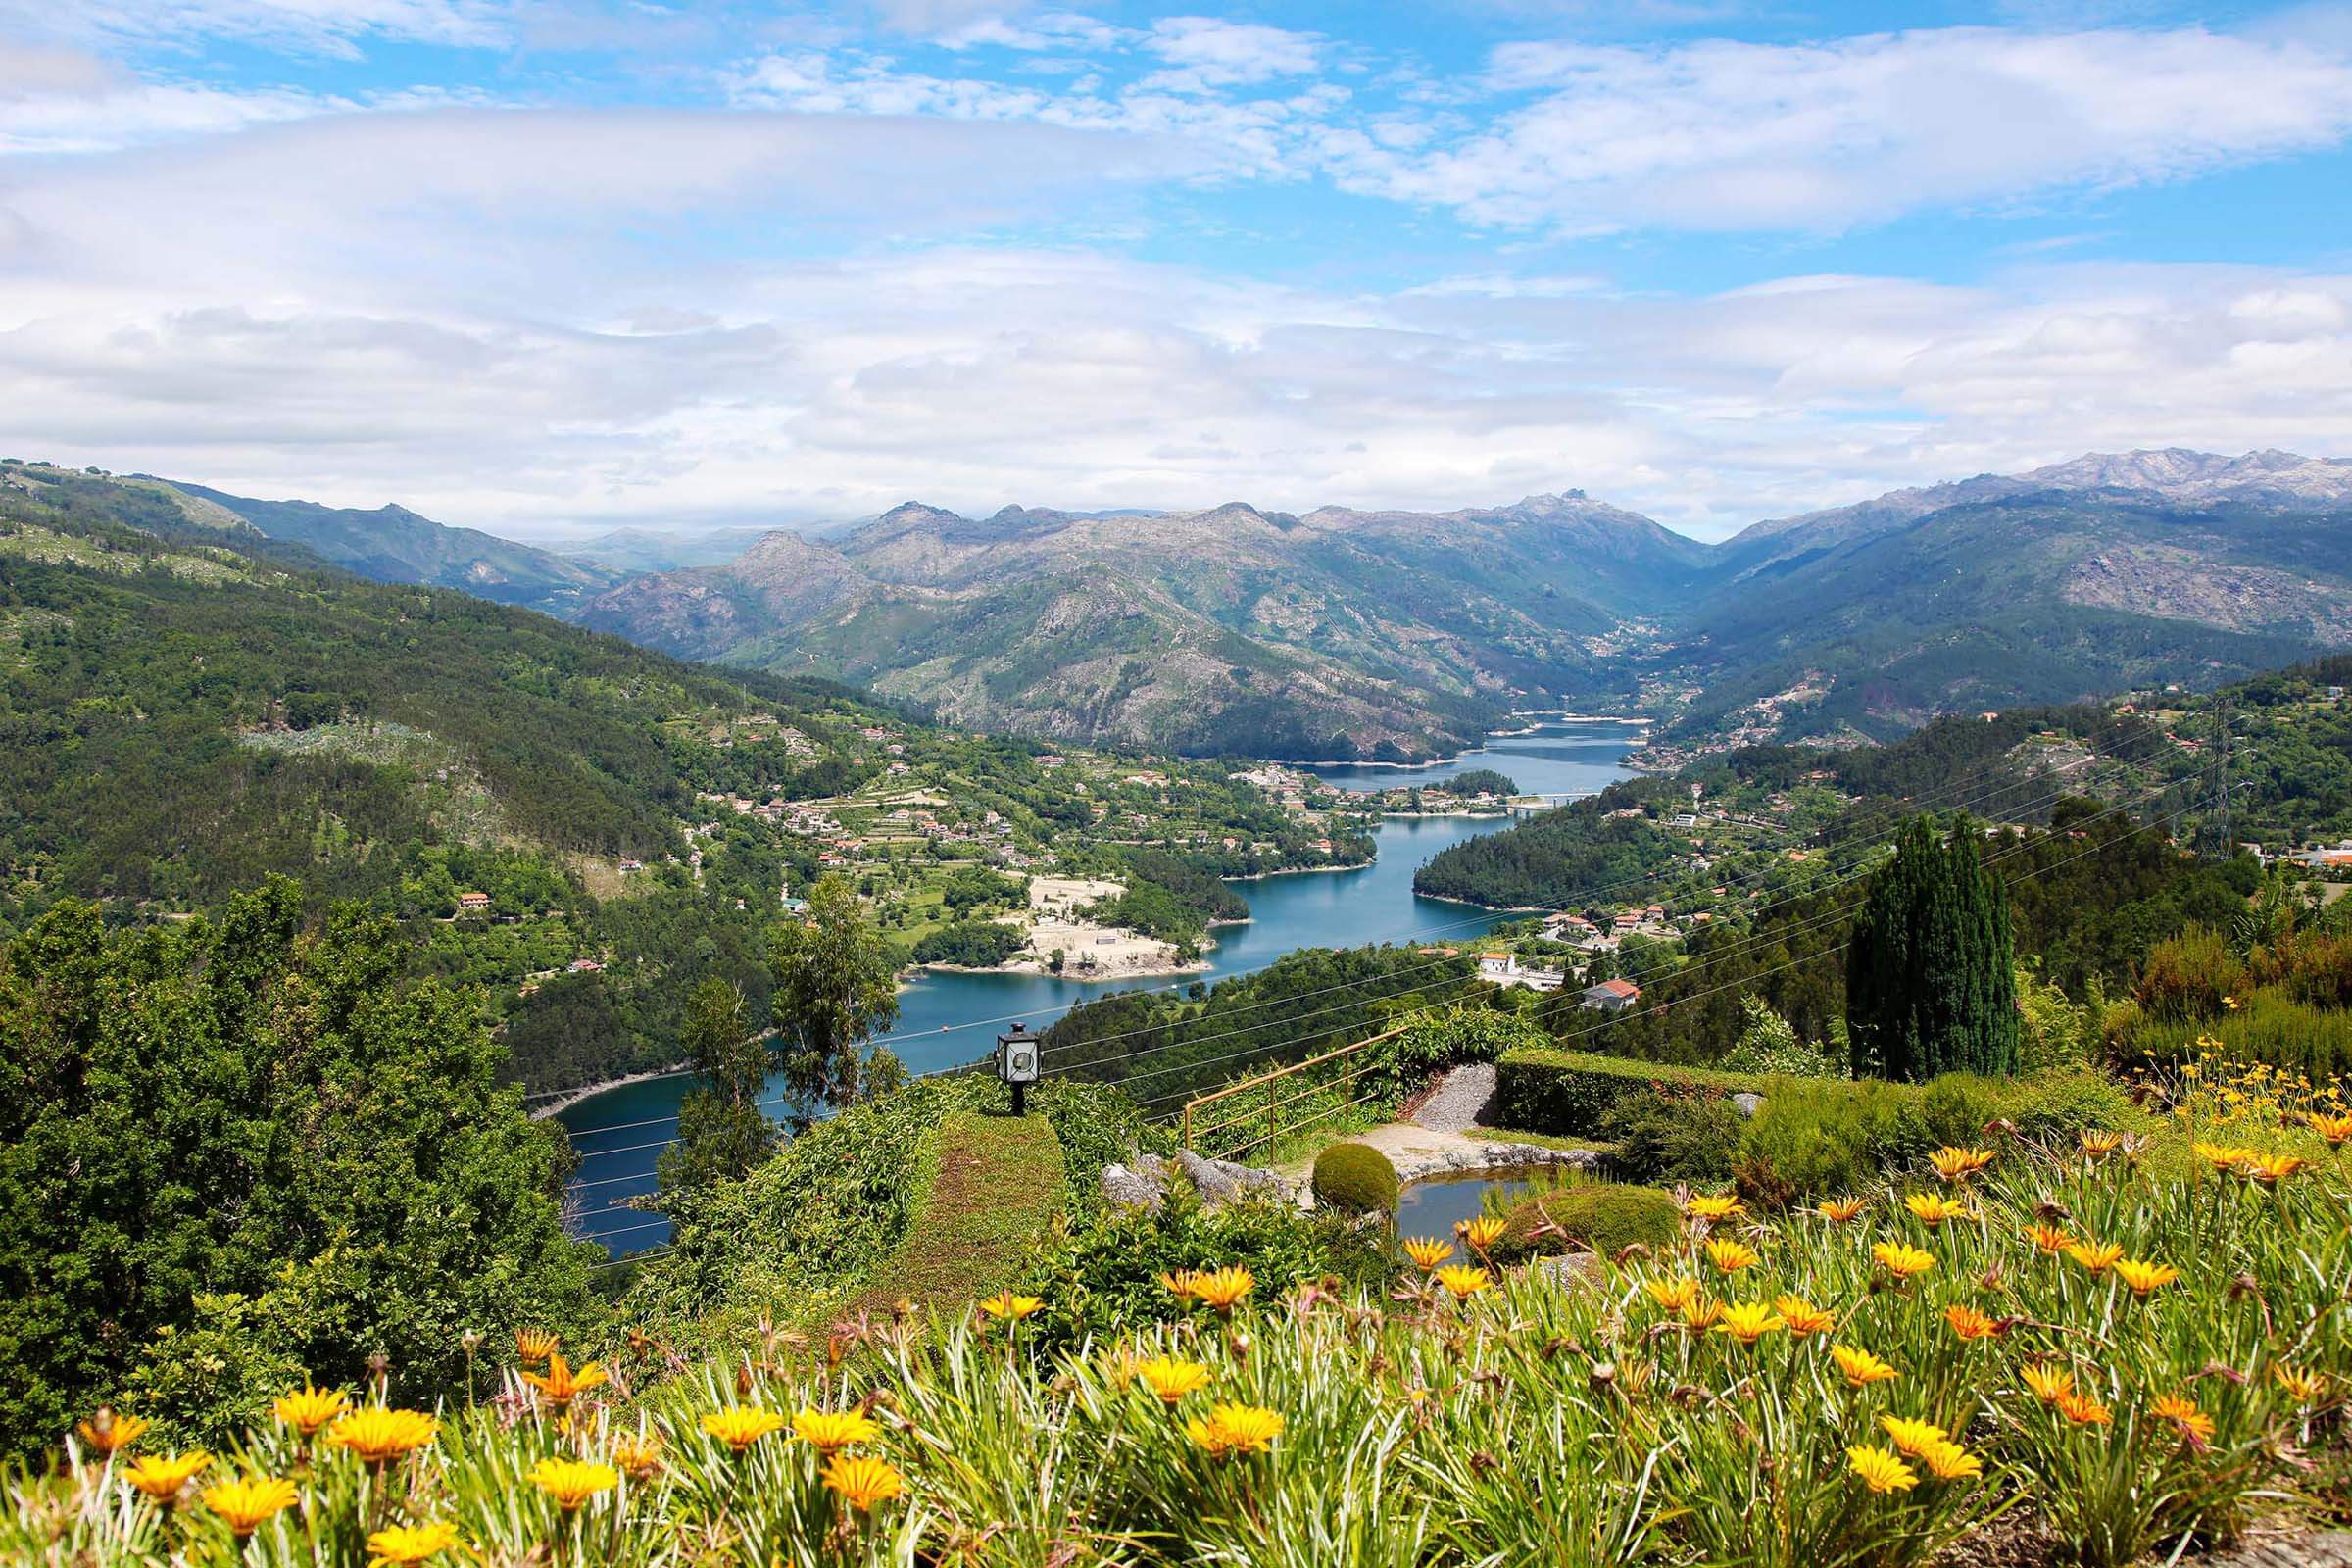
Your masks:
M 776 931 L 771 1009 L 783 1039 L 786 1121 L 804 1131 L 828 1105 L 854 1105 L 863 1044 L 898 1018 L 898 961 L 840 877 L 809 889 L 802 919 Z

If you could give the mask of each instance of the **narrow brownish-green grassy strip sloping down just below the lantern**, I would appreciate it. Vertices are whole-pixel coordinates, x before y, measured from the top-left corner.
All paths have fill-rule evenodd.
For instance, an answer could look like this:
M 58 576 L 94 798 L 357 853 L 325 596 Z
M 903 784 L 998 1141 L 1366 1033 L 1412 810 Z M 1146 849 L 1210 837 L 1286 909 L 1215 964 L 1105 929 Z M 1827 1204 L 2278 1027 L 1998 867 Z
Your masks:
M 1063 1204 L 1063 1154 L 1042 1114 L 948 1114 L 924 1147 L 929 1192 L 898 1251 L 849 1302 L 887 1312 L 910 1298 L 948 1316 L 1021 1276 L 1030 1244 Z

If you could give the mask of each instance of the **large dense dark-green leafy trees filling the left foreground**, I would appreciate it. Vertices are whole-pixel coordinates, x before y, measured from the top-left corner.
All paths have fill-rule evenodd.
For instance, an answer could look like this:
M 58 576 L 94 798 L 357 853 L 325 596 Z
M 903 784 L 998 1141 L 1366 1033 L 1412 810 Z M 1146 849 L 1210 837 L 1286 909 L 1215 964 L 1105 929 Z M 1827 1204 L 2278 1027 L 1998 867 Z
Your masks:
M 207 1441 L 374 1352 L 430 1408 L 463 1331 L 593 1324 L 562 1133 L 407 957 L 350 905 L 303 931 L 287 879 L 169 929 L 61 900 L 0 945 L 0 1453 L 101 1401 Z

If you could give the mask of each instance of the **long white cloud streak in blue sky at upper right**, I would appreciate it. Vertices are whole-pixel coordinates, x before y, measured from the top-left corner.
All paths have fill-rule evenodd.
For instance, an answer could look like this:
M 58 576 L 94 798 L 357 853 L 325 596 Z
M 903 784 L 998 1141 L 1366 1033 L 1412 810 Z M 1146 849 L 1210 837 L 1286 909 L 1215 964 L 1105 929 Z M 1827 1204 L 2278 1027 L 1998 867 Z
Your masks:
M 1482 223 L 1842 228 L 2180 179 L 2352 132 L 2352 59 L 2199 28 L 1536 42 L 1498 49 L 1489 85 L 1531 101 L 1432 153 L 1348 148 L 1336 174 Z

